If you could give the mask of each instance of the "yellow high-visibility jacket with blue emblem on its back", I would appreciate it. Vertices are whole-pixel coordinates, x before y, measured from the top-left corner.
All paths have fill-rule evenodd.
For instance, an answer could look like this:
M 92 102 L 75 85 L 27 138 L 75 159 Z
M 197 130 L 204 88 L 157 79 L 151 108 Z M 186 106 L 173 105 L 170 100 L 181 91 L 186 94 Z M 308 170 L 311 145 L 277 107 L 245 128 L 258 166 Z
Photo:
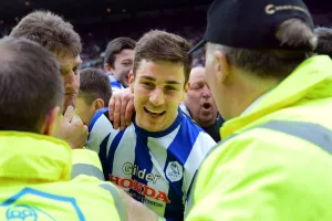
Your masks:
M 60 139 L 0 131 L 0 220 L 126 220 L 118 190 L 90 176 L 71 181 L 72 150 Z

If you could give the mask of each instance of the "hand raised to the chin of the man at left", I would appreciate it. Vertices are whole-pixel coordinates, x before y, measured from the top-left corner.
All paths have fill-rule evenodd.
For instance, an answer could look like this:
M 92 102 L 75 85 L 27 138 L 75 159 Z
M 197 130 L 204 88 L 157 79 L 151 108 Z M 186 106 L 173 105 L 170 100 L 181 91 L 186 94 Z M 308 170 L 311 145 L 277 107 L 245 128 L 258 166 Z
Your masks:
M 61 120 L 60 127 L 56 128 L 54 137 L 66 141 L 72 149 L 80 149 L 85 145 L 87 135 L 87 127 L 79 116 L 74 115 L 74 108 L 69 106 Z

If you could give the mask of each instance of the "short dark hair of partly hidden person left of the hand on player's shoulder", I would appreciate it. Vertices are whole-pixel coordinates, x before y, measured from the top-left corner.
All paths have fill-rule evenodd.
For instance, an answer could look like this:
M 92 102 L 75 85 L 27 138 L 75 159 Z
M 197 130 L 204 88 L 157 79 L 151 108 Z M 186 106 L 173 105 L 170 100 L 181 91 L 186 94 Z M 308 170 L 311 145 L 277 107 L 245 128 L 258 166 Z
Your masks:
M 105 72 L 98 69 L 85 69 L 80 72 L 80 97 L 83 97 L 87 105 L 96 98 L 104 101 L 104 106 L 108 106 L 112 96 L 110 78 Z

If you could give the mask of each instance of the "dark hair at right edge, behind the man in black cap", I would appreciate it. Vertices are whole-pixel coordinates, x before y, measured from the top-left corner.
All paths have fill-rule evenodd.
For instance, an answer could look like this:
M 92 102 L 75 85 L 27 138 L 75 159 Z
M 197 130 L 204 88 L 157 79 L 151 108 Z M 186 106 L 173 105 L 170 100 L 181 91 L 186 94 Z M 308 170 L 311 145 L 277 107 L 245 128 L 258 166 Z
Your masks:
M 317 28 L 314 33 L 318 36 L 318 46 L 315 52 L 318 54 L 326 54 L 332 59 L 332 29 Z

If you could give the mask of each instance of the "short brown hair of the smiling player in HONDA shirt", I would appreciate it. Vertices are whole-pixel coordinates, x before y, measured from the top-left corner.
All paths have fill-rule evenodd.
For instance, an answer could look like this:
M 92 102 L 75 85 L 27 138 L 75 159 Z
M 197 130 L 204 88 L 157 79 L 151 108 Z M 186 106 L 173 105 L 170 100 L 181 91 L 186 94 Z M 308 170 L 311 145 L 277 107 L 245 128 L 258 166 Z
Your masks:
M 143 60 L 181 63 L 185 70 L 185 83 L 187 83 L 193 63 L 193 56 L 188 54 L 190 48 L 190 43 L 179 35 L 159 30 L 149 31 L 136 44 L 134 75 Z

